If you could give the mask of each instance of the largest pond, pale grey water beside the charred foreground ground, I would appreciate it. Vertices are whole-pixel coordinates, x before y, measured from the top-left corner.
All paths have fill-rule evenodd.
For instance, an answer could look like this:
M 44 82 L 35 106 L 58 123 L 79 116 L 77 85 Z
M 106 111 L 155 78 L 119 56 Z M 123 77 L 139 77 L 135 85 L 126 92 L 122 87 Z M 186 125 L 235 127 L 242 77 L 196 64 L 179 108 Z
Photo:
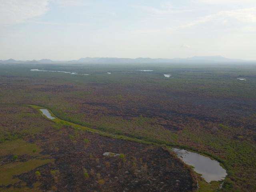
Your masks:
M 173 150 L 184 163 L 193 166 L 195 172 L 202 174 L 206 182 L 220 181 L 227 175 L 226 170 L 216 160 L 184 149 Z

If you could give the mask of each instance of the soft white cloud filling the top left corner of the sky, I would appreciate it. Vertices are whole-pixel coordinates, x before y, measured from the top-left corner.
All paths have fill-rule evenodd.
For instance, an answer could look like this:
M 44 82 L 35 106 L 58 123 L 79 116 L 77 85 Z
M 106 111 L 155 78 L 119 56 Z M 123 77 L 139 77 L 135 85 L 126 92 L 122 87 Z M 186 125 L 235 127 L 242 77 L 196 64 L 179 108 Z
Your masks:
M 0 0 L 0 24 L 15 24 L 48 11 L 48 0 Z

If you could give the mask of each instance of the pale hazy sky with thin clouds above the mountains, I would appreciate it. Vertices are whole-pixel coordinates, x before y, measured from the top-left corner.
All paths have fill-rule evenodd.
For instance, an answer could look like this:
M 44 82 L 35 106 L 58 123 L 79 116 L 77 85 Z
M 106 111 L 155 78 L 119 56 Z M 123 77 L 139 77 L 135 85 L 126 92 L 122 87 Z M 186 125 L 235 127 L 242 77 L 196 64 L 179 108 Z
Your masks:
M 0 59 L 256 60 L 256 0 L 0 0 Z

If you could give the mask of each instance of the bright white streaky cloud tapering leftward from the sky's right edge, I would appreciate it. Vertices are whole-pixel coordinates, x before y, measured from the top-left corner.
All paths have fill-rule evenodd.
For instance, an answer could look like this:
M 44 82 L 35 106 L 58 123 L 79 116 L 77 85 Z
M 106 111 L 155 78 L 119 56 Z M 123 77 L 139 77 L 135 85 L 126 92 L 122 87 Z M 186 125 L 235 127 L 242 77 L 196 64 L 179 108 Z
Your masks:
M 188 24 L 180 26 L 180 28 L 192 27 L 198 24 L 203 24 L 211 21 L 227 23 L 228 19 L 235 19 L 239 22 L 255 23 L 256 22 L 256 7 L 245 8 L 238 10 L 220 11 L 216 14 L 201 17 Z

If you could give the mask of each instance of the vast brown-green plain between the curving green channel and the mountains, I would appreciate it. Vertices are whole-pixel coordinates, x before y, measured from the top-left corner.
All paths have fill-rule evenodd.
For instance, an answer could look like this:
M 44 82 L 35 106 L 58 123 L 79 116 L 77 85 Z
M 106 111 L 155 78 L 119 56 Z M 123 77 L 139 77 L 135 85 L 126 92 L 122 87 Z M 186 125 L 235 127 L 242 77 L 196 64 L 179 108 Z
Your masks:
M 255 66 L 0 68 L 2 104 L 44 106 L 63 120 L 99 132 L 197 150 L 217 158 L 227 168 L 222 191 L 256 190 Z M 32 68 L 91 75 L 31 72 Z M 237 79 L 242 77 L 246 81 Z M 5 135 L 18 138 L 20 132 Z

